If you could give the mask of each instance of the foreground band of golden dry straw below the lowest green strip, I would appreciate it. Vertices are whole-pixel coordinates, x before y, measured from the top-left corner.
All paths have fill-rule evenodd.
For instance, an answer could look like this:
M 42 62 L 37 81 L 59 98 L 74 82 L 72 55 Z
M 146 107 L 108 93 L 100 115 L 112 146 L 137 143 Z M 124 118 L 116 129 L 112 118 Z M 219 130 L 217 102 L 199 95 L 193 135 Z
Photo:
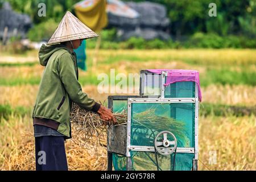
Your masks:
M 9 121 L 1 121 L 5 127 L 0 127 L 0 170 L 35 169 L 35 143 L 32 122 L 28 119 L 11 116 Z M 254 115 L 199 120 L 199 170 L 256 169 Z M 81 140 L 72 128 L 72 139 L 65 142 L 69 170 L 106 170 L 106 148 L 98 146 L 96 155 L 93 146 L 82 147 Z M 209 164 L 211 152 L 216 152 L 214 164 Z

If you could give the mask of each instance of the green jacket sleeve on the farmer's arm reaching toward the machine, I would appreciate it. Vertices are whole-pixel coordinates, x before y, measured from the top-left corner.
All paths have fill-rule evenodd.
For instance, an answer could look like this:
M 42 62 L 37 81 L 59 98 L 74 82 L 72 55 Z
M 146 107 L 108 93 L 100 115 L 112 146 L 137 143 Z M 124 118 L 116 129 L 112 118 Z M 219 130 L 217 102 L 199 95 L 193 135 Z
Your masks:
M 86 110 L 97 112 L 100 109 L 100 104 L 82 92 L 81 84 L 76 78 L 74 61 L 68 52 L 59 57 L 58 71 L 60 80 L 63 82 L 65 90 L 73 102 Z

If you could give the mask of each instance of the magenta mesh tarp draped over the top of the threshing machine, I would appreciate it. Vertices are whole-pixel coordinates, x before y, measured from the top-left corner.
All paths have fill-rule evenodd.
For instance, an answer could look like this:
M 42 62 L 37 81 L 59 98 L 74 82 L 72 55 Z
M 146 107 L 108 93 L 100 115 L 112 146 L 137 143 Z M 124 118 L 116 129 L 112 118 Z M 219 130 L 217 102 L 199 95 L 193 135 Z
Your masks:
M 200 102 L 202 101 L 198 71 L 188 70 L 188 69 L 147 69 L 147 71 L 152 73 L 157 73 L 157 74 L 161 74 L 162 72 L 167 72 L 166 84 L 164 84 L 164 86 L 168 86 L 170 84 L 173 84 L 174 82 L 180 82 L 180 81 L 196 82 L 198 86 L 198 92 L 199 92 L 199 101 Z

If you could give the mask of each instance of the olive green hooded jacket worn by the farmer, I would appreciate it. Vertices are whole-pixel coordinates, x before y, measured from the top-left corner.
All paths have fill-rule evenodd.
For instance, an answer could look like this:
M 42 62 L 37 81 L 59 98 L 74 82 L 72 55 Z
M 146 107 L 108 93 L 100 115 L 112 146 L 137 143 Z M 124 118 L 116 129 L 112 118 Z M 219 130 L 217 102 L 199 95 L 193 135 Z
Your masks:
M 39 51 L 39 62 L 45 68 L 32 110 L 32 118 L 45 118 L 57 122 L 57 131 L 71 138 L 69 114 L 72 102 L 92 111 L 97 111 L 100 104 L 82 92 L 78 81 L 75 52 L 61 45 L 43 44 Z

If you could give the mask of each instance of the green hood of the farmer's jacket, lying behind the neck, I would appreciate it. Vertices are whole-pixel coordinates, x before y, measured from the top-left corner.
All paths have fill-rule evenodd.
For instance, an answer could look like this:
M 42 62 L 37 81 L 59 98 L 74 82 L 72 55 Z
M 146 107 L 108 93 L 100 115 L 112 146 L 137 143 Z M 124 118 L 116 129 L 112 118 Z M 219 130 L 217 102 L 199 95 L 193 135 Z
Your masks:
M 39 63 L 45 67 L 51 55 L 54 52 L 58 51 L 59 49 L 66 49 L 68 52 L 71 53 L 71 51 L 69 51 L 68 48 L 66 48 L 61 44 L 57 44 L 53 46 L 46 46 L 45 44 L 43 44 L 39 50 Z

